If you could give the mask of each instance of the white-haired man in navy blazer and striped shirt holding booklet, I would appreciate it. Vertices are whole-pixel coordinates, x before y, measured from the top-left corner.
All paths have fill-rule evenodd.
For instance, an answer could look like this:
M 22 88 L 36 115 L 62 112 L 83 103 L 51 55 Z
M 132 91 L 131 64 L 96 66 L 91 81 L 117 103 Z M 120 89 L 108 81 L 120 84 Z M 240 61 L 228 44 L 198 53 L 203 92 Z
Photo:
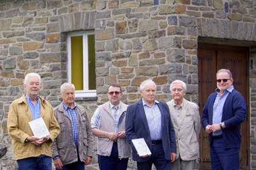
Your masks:
M 154 163 L 159 170 L 171 169 L 176 157 L 175 132 L 167 104 L 155 100 L 154 81 L 145 80 L 140 85 L 141 96 L 136 103 L 127 107 L 126 138 L 132 146 L 132 158 L 140 170 L 151 169 Z M 139 156 L 132 144 L 133 139 L 144 138 L 151 155 Z

